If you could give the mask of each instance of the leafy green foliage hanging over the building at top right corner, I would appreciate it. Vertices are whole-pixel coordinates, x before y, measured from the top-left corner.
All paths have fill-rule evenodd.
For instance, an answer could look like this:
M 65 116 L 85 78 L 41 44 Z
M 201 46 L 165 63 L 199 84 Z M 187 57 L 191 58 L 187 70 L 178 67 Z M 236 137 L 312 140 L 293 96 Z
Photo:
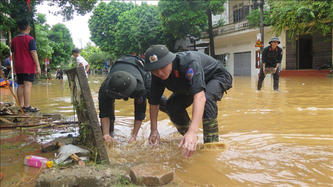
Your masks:
M 289 30 L 289 37 L 311 31 L 326 34 L 333 26 L 333 3 L 330 0 L 268 0 L 264 11 L 264 23 L 272 27 L 272 33 L 280 35 Z M 259 10 L 246 17 L 250 23 L 259 22 Z

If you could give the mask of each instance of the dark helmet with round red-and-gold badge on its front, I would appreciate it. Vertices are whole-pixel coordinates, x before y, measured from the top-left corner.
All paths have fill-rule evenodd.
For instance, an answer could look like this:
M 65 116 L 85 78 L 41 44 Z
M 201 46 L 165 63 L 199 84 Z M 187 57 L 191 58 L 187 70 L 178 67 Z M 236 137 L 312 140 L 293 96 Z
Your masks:
M 162 68 L 172 62 L 176 54 L 169 51 L 164 45 L 152 45 L 145 53 L 145 71 L 153 71 Z

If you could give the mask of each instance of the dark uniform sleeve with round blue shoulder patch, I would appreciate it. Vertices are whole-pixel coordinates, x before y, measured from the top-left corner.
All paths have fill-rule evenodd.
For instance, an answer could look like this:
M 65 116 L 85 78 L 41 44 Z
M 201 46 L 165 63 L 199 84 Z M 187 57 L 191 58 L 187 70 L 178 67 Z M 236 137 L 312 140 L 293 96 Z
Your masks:
M 189 93 L 194 96 L 202 90 L 206 90 L 205 74 L 202 65 L 197 61 L 188 64 L 185 71 L 185 78 L 190 80 L 191 87 Z

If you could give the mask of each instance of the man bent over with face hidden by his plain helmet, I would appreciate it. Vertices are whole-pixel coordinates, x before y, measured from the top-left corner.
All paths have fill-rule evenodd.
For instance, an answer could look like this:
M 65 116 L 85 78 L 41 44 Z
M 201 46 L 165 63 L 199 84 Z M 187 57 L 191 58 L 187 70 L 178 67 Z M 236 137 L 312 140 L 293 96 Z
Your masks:
M 134 98 L 134 129 L 130 141 L 134 141 L 142 120 L 146 117 L 146 98 L 149 98 L 151 74 L 143 69 L 144 60 L 127 54 L 119 58 L 111 67 L 110 73 L 103 81 L 98 94 L 99 117 L 103 138 L 113 141 L 115 99 Z M 160 97 L 161 111 L 166 108 L 166 97 Z

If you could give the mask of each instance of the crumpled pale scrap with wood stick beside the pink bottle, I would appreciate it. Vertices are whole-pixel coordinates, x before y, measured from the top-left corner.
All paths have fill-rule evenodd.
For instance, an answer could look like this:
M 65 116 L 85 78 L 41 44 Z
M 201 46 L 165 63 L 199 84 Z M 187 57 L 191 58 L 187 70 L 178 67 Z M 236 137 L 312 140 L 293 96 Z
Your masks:
M 75 146 L 73 144 L 63 145 L 61 142 L 57 142 L 57 145 L 60 146 L 59 154 L 55 159 L 55 162 L 57 164 L 65 161 L 69 156 L 71 156 L 71 158 L 77 161 L 79 165 L 85 165 L 85 162 L 75 153 L 80 152 L 87 155 L 89 153 L 89 150 Z

